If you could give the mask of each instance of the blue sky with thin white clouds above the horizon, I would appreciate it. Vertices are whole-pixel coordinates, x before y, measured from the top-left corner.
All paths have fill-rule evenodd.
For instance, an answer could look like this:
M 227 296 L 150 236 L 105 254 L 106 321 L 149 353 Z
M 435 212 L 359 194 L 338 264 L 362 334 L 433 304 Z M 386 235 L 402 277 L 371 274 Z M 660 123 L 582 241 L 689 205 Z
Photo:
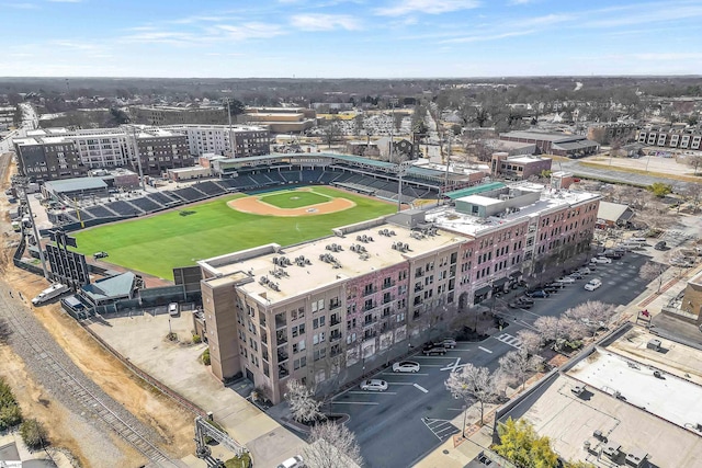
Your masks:
M 0 0 L 0 76 L 702 75 L 702 0 Z

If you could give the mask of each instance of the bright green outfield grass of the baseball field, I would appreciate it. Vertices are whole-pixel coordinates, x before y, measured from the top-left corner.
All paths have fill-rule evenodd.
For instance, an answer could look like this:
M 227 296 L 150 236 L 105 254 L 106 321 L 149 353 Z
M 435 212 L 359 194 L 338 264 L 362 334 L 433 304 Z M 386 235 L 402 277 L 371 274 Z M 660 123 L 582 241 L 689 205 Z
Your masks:
M 395 204 L 315 186 L 315 192 L 348 198 L 355 207 L 328 215 L 275 217 L 231 209 L 231 195 L 160 215 L 99 226 L 73 232 L 78 251 L 110 254 L 105 261 L 138 272 L 172 279 L 171 269 L 197 260 L 276 242 L 290 246 L 331 235 L 331 228 L 376 218 L 395 212 Z M 274 194 L 271 192 L 271 194 Z M 290 191 L 285 191 L 285 196 Z M 319 196 L 319 195 L 317 195 Z M 326 201 L 327 198 L 325 198 Z M 182 216 L 181 212 L 191 213 Z

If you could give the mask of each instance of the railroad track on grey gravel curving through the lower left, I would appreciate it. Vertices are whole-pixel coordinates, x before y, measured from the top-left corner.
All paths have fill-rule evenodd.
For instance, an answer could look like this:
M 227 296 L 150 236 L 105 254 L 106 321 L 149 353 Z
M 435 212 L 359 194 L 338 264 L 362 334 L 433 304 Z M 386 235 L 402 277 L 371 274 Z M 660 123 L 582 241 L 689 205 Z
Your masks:
M 0 293 L 0 307 L 2 307 L 4 311 L 3 315 L 8 324 L 12 328 L 14 334 L 13 339 L 23 340 L 31 346 L 32 351 L 36 354 L 36 358 L 42 362 L 46 372 L 50 373 L 52 377 L 59 383 L 60 388 L 65 391 L 66 396 L 72 397 L 77 403 L 87 410 L 87 412 L 93 414 L 107 427 L 117 433 L 123 440 L 128 442 L 134 448 L 141 453 L 141 455 L 144 455 L 152 466 L 163 468 L 178 466 L 168 457 L 168 455 L 161 452 L 129 423 L 112 411 L 102 401 L 102 399 L 87 388 L 79 378 L 73 375 L 73 373 L 65 368 L 50 352 L 46 351 L 42 345 L 41 340 L 32 334 L 31 330 L 29 330 L 22 322 L 19 317 L 21 312 L 15 310 L 15 305 L 11 304 L 2 293 Z

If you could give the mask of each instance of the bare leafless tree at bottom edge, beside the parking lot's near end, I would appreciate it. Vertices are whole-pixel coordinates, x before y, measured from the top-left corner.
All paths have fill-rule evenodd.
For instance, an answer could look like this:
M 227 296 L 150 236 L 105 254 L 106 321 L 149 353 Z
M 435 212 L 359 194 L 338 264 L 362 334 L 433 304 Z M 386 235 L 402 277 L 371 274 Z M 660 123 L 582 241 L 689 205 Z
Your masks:
M 343 424 L 317 424 L 309 434 L 309 445 L 303 449 L 309 468 L 353 468 L 363 466 L 355 436 Z

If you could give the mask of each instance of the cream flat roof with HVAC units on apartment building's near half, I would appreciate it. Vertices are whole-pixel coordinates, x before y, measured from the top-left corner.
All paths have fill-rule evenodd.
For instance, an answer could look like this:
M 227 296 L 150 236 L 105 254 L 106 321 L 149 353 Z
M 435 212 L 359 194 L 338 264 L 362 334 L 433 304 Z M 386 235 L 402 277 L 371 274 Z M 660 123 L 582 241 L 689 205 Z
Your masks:
M 380 230 L 393 231 L 393 236 L 382 236 Z M 285 300 L 291 296 L 298 296 L 306 290 L 316 290 L 325 285 L 332 285 L 339 281 L 365 275 L 375 270 L 385 269 L 406 262 L 408 259 L 419 258 L 441 247 L 449 247 L 464 242 L 466 239 L 451 233 L 438 231 L 434 236 L 423 236 L 421 239 L 412 237 L 412 231 L 395 225 L 383 224 L 373 228 L 366 228 L 347 233 L 343 238 L 330 237 L 298 246 L 287 247 L 282 252 L 275 253 L 272 249 L 262 251 L 261 254 L 250 259 L 238 261 L 237 253 L 223 255 L 215 259 L 199 262 L 213 273 L 223 276 L 237 275 L 246 272 L 254 281 L 239 287 L 253 297 L 265 298 L 268 303 Z M 358 237 L 372 238 L 372 241 L 362 242 Z M 415 235 L 417 236 L 417 235 Z M 401 242 L 409 246 L 409 250 L 399 251 L 393 249 L 393 244 Z M 337 251 L 327 249 L 336 244 Z M 352 250 L 353 246 L 353 250 Z M 339 250 L 339 248 L 341 250 Z M 365 252 L 359 252 L 359 248 Z M 256 249 L 252 249 L 256 250 Z M 320 260 L 321 254 L 331 255 L 336 260 L 329 263 Z M 279 269 L 273 263 L 273 258 L 286 258 L 292 263 L 285 269 Z M 295 259 L 304 256 L 309 264 L 298 266 Z M 228 258 L 231 261 L 228 261 Z M 338 265 L 338 266 L 337 266 Z M 274 276 L 275 270 L 282 270 L 286 275 Z M 278 285 L 275 290 L 270 285 L 261 284 L 261 277 Z

